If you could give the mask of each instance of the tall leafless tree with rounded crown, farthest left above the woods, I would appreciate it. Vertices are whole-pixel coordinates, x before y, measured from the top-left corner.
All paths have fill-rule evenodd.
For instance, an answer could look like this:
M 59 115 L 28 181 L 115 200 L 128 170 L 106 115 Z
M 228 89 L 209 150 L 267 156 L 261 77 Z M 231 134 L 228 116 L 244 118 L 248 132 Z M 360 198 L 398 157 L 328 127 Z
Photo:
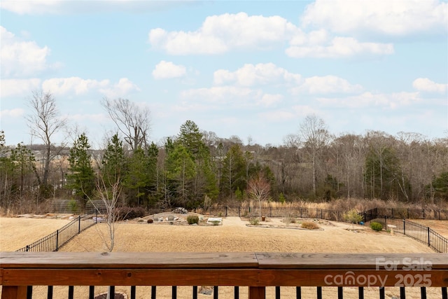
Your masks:
M 34 91 L 31 99 L 29 99 L 29 106 L 33 113 L 27 116 L 31 136 L 43 141 L 45 146 L 43 154 L 43 175 L 40 176 L 36 172 L 39 183 L 40 193 L 45 196 L 48 195 L 48 177 L 50 171 L 50 161 L 57 153 L 52 153 L 52 137 L 57 132 L 62 130 L 66 125 L 66 118 L 59 116 L 57 111 L 55 97 L 50 92 L 43 92 L 42 90 Z

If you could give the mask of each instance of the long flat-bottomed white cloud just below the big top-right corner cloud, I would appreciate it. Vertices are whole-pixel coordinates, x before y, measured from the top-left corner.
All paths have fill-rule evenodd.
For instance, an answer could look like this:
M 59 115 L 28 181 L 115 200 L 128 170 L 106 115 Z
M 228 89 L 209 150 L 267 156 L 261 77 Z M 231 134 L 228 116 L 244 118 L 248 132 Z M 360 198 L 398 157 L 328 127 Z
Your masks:
M 320 40 L 319 42 L 322 42 Z M 391 43 L 361 43 L 351 37 L 335 37 L 330 43 L 325 44 L 304 44 L 297 46 L 297 41 L 293 39 L 291 46 L 286 49 L 286 55 L 294 58 L 318 57 L 337 58 L 351 57 L 354 55 L 390 55 L 393 54 L 393 44 Z

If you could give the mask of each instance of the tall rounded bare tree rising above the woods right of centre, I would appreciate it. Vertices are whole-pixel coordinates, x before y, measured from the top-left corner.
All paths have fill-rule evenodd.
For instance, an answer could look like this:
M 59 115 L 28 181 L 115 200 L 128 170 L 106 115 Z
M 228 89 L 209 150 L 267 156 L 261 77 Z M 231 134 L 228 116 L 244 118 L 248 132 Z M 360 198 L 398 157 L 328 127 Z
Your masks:
M 303 137 L 304 145 L 311 155 L 313 194 L 316 195 L 316 157 L 318 151 L 321 151 L 330 141 L 330 134 L 323 119 L 318 118 L 314 114 L 304 119 L 300 125 L 300 134 Z

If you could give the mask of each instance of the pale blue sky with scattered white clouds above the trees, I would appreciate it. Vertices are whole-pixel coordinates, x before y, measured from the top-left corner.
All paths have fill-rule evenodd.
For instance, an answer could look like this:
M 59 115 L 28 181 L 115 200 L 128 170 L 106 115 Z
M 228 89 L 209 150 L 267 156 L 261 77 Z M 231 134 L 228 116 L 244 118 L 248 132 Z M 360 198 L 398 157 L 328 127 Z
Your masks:
M 1 0 L 0 19 L 6 144 L 42 143 L 37 90 L 92 147 L 119 97 L 150 109 L 155 143 L 193 120 L 279 146 L 313 114 L 335 135 L 448 137 L 447 1 Z

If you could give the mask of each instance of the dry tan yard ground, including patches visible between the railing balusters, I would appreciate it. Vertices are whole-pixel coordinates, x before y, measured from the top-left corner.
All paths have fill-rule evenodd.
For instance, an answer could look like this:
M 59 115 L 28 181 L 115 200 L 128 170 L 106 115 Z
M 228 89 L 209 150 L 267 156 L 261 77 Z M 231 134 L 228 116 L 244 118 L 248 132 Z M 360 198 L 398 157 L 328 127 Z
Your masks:
M 34 229 L 41 224 L 50 232 L 60 228 L 57 219 L 0 218 L 0 240 L 2 250 L 15 250 L 27 240 L 38 239 Z M 258 227 L 248 226 L 248 221 L 238 217 L 223 218 L 223 225 L 180 225 L 179 223 L 137 223 L 128 221 L 116 225 L 116 246 L 113 251 L 160 252 L 231 252 L 231 251 L 277 251 L 277 252 L 348 252 L 348 253 L 431 253 L 428 246 L 388 232 L 374 232 L 370 228 L 330 221 L 316 221 L 323 230 L 300 230 L 298 224 L 283 223 L 279 218 L 267 219 Z M 32 224 L 36 221 L 36 224 Z M 40 222 L 42 221 L 42 222 Z M 52 222 L 54 221 L 54 222 Z M 27 225 L 24 231 L 21 223 Z M 28 224 L 27 224 L 28 223 Z M 37 224 L 38 223 L 38 224 Z M 10 227 L 8 228 L 8 225 Z M 265 227 L 263 227 L 265 226 Z M 269 226 L 269 227 L 267 227 Z M 50 228 L 51 227 L 51 228 Z M 14 230 L 19 230 L 14 232 Z M 61 251 L 104 251 L 106 224 L 88 228 L 73 238 Z M 29 237 L 29 236 L 32 237 Z M 44 233 L 43 235 L 46 235 Z M 20 236 L 20 237 L 18 237 Z M 10 239 L 10 240 L 8 240 Z M 6 242 L 8 240 L 8 242 Z M 13 241 L 18 244 L 13 246 Z M 3 241 L 5 241 L 3 245 Z M 19 246 L 20 244 L 20 246 Z M 95 293 L 105 289 L 96 288 Z M 129 287 L 117 286 L 117 291 L 130 294 Z M 192 289 L 180 287 L 178 298 L 190 298 Z M 295 298 L 295 288 L 281 288 L 281 298 Z M 66 298 L 67 288 L 55 287 L 55 298 Z M 357 288 L 344 288 L 344 298 L 358 298 Z M 75 288 L 75 298 L 88 298 L 85 287 Z M 137 298 L 150 298 L 151 288 L 137 287 Z M 386 298 L 399 298 L 398 288 L 386 288 Z M 407 288 L 408 298 L 419 298 L 419 289 Z M 240 288 L 240 297 L 247 298 L 247 288 Z M 267 288 L 267 298 L 274 298 L 274 288 Z M 365 288 L 365 298 L 378 298 L 378 288 Z M 46 288 L 35 287 L 33 298 L 46 298 Z M 158 287 L 157 298 L 171 298 L 171 287 Z M 198 296 L 211 299 L 212 295 Z M 232 287 L 220 287 L 219 298 L 233 298 Z M 302 288 L 302 298 L 316 298 L 316 288 Z M 335 288 L 323 288 L 323 298 L 337 298 Z M 427 298 L 441 298 L 440 289 L 428 288 Z

